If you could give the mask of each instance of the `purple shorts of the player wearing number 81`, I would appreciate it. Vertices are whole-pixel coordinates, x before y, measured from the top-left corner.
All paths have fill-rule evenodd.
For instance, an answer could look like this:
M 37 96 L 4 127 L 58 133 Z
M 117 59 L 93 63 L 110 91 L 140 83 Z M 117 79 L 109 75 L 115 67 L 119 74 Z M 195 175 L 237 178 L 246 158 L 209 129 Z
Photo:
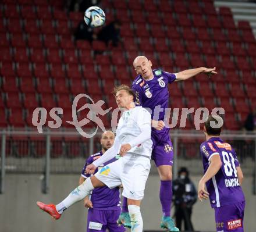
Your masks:
M 245 206 L 243 201 L 214 208 L 217 232 L 243 232 Z

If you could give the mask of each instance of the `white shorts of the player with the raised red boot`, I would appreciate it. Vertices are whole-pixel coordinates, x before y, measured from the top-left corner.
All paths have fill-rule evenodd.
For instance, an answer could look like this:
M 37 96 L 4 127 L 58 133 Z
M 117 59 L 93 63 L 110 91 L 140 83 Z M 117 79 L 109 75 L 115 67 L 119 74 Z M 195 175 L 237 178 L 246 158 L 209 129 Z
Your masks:
M 126 154 L 95 174 L 109 188 L 123 185 L 123 196 L 141 200 L 144 197 L 145 184 L 150 173 L 150 158 Z

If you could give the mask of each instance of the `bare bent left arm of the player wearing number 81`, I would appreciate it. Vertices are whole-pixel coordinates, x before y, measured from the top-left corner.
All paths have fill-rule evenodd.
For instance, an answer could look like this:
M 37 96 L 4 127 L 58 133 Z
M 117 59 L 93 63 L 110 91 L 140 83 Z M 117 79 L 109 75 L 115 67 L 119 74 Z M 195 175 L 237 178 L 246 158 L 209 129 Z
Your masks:
M 207 199 L 209 196 L 209 193 L 205 191 L 205 183 L 207 183 L 209 179 L 214 177 L 215 174 L 219 172 L 219 169 L 221 169 L 222 166 L 221 158 L 219 157 L 219 155 L 212 156 L 210 162 L 211 163 L 207 169 L 207 172 L 204 174 L 204 176 L 198 183 L 197 194 L 200 201 L 202 201 L 202 199 Z

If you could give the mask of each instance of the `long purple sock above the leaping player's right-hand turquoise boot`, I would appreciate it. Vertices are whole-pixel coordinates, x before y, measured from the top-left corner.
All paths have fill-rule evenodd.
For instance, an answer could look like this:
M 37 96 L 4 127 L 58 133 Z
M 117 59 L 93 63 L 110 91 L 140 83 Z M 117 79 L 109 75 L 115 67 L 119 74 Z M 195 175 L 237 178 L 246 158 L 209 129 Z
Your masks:
M 172 181 L 161 180 L 159 197 L 162 204 L 163 216 L 170 216 L 170 205 L 172 205 Z

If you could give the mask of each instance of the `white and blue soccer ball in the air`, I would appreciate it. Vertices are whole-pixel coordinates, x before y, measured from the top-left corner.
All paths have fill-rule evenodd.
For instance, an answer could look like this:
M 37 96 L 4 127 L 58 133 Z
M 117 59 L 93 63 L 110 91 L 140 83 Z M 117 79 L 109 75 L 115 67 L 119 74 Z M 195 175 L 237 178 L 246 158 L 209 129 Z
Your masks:
M 98 6 L 91 6 L 84 12 L 84 22 L 89 27 L 99 27 L 105 23 L 105 13 Z

